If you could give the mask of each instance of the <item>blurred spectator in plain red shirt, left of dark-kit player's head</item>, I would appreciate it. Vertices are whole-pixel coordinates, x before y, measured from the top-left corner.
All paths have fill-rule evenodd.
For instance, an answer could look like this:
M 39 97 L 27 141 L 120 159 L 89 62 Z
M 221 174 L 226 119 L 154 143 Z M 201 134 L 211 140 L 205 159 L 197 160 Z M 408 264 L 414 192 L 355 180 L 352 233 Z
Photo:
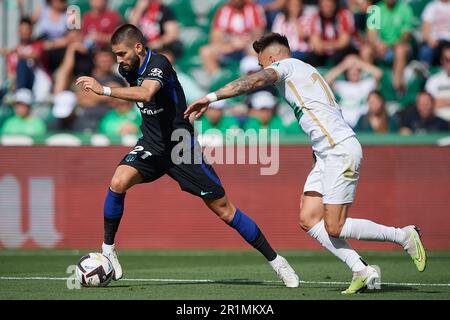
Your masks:
M 90 0 L 91 10 L 83 15 L 81 31 L 87 47 L 105 48 L 120 24 L 120 15 L 107 8 L 108 0 Z

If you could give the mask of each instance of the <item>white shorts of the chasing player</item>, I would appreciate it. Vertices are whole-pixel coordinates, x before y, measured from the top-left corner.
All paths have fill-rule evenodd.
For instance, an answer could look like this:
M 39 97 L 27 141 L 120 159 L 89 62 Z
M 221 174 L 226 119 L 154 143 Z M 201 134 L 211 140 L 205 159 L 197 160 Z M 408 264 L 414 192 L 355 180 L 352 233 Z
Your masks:
M 324 204 L 352 203 L 362 162 L 358 139 L 349 137 L 334 148 L 315 152 L 315 155 L 316 164 L 306 179 L 303 192 L 322 194 Z

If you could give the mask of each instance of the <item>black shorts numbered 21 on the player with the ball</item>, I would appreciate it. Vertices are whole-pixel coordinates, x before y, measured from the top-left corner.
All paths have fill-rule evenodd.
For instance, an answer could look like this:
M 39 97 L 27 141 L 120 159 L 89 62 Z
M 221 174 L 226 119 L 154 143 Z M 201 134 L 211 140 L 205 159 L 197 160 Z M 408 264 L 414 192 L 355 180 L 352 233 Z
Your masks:
M 196 153 L 194 153 L 194 150 Z M 197 161 L 195 160 L 197 155 Z M 135 168 L 144 178 L 144 183 L 152 182 L 167 174 L 178 182 L 181 190 L 203 199 L 220 199 L 225 195 L 219 177 L 213 167 L 206 163 L 200 146 L 191 147 L 190 163 L 176 164 L 171 155 L 161 155 L 144 140 L 138 140 L 134 149 L 128 153 L 119 165 Z

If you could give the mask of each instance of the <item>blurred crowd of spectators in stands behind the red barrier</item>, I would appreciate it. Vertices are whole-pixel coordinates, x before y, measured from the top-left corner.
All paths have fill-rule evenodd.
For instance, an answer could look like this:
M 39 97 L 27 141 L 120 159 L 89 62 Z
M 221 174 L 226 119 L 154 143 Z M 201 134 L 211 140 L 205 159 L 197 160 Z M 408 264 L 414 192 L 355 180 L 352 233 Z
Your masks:
M 7 66 L 2 137 L 138 135 L 140 114 L 132 103 L 74 86 L 80 75 L 125 85 L 108 47 L 124 22 L 138 25 L 148 46 L 173 62 L 188 103 L 258 71 L 251 44 L 273 31 L 288 37 L 294 57 L 319 69 L 357 132 L 450 130 L 450 0 L 13 1 L 18 43 L 0 48 Z M 68 29 L 72 5 L 80 9 L 80 29 Z M 273 88 L 214 103 L 201 124 L 202 132 L 302 134 Z

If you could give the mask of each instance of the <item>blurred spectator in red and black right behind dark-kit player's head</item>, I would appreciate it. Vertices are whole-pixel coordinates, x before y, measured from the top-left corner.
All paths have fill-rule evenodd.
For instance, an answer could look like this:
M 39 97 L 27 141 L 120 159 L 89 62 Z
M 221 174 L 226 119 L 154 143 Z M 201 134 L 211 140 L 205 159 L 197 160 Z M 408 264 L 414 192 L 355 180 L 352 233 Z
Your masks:
M 178 22 L 172 10 L 161 4 L 160 0 L 139 0 L 128 20 L 129 23 L 139 26 L 150 49 L 158 51 L 167 47 L 176 57 L 181 55 Z

